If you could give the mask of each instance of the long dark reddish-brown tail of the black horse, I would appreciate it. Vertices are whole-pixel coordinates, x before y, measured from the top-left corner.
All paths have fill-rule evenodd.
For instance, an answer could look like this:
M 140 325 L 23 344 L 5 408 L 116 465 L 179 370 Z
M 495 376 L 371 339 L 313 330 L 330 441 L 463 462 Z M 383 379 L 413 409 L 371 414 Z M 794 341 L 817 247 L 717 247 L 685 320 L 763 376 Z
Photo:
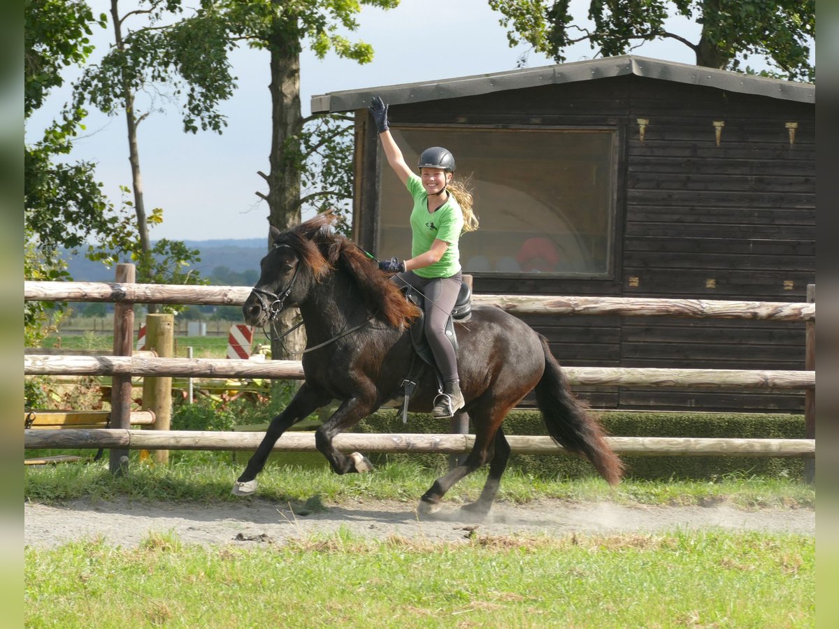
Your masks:
M 602 426 L 576 400 L 560 363 L 550 353 L 548 340 L 539 335 L 545 351 L 545 373 L 536 385 L 536 403 L 550 436 L 565 450 L 590 460 L 610 485 L 617 485 L 623 476 L 623 461 L 606 439 Z

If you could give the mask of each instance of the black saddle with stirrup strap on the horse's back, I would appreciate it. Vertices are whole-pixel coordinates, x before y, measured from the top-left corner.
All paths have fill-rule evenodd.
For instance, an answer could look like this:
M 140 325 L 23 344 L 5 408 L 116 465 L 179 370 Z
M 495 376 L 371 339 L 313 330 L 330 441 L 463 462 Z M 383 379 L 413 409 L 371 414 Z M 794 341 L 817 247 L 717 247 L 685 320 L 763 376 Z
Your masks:
M 414 346 L 414 354 L 411 356 L 411 365 L 408 370 L 408 376 L 404 378 L 402 384 L 399 385 L 404 390 L 404 398 L 400 401 L 393 400 L 395 403 L 402 404 L 402 422 L 408 423 L 408 405 L 410 403 L 411 395 L 417 386 L 420 379 L 420 372 L 422 372 L 423 365 L 416 364 L 416 356 L 425 364 L 434 369 L 437 377 L 437 388 L 440 392 L 443 390 L 443 379 L 440 377 L 440 371 L 437 369 L 437 364 L 434 360 L 434 354 L 431 352 L 431 347 L 428 344 L 428 339 L 425 337 L 425 295 L 420 294 L 412 286 L 405 286 L 403 289 L 405 299 L 411 301 L 420 309 L 420 316 L 411 324 L 408 334 L 410 335 L 411 345 Z M 455 307 L 451 310 L 448 320 L 446 320 L 446 338 L 451 342 L 451 346 L 457 351 L 457 335 L 455 332 L 455 321 L 468 321 L 472 318 L 472 288 L 466 282 L 461 283 L 460 292 L 457 294 L 455 300 Z

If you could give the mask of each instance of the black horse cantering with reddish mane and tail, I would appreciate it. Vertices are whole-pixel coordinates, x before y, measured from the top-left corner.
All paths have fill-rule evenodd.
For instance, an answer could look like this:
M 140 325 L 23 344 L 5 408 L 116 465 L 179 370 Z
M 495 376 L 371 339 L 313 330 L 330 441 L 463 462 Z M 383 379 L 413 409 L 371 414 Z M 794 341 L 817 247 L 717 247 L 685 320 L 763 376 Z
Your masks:
M 378 270 L 362 250 L 331 230 L 329 214 L 315 216 L 289 231 L 271 228 L 272 246 L 263 257 L 256 287 L 242 306 L 249 325 L 266 325 L 280 310 L 300 309 L 307 338 L 305 382 L 277 415 L 239 476 L 233 493 L 256 491 L 256 476 L 280 435 L 333 400 L 341 406 L 315 433 L 317 449 L 338 474 L 373 468 L 357 452 L 343 455 L 332 445 L 336 434 L 400 395 L 414 351 L 409 332 L 419 310 L 388 273 Z M 489 462 L 489 475 L 477 502 L 463 507 L 486 514 L 510 455 L 501 423 L 530 391 L 551 437 L 584 455 L 612 485 L 623 463 L 612 452 L 600 424 L 586 413 L 568 387 L 545 338 L 502 309 L 476 306 L 466 325 L 457 324 L 461 390 L 475 432 L 475 444 L 461 465 L 437 479 L 422 496 L 418 511 L 434 512 L 440 499 L 461 478 Z M 435 373 L 419 378 L 410 410 L 430 412 L 437 395 Z M 448 428 L 448 426 L 446 426 Z

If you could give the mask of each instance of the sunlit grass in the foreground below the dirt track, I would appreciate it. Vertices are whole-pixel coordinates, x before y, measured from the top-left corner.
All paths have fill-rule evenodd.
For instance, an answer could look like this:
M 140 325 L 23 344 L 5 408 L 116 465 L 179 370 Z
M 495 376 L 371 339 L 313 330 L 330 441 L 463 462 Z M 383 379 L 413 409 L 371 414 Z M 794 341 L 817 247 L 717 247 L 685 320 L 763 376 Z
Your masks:
M 253 550 L 153 533 L 25 551 L 26 626 L 663 627 L 815 622 L 815 540 L 720 531 Z

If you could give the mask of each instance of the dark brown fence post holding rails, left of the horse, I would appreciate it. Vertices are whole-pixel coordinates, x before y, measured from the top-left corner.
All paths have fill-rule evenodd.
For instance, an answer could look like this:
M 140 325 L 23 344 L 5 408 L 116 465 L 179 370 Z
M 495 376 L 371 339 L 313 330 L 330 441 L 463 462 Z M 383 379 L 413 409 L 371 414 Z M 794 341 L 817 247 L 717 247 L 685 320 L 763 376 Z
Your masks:
M 117 264 L 116 282 L 134 283 L 133 264 Z M 113 355 L 131 356 L 134 349 L 134 304 L 117 302 L 113 306 Z M 111 428 L 131 428 L 131 376 L 113 376 L 111 387 Z M 112 448 L 109 455 L 112 474 L 128 472 L 128 450 Z

